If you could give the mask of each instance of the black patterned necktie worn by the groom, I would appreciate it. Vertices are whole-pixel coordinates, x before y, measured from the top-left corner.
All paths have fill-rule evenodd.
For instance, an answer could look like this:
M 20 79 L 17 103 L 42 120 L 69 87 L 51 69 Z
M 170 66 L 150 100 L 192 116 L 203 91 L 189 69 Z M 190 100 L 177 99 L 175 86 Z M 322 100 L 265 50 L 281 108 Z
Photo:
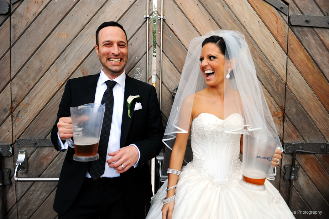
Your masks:
M 102 104 L 105 103 L 105 112 L 97 151 L 99 154 L 99 159 L 91 161 L 88 169 L 88 172 L 94 181 L 104 174 L 105 159 L 107 154 L 107 146 L 109 144 L 113 114 L 114 97 L 112 88 L 116 82 L 108 80 L 105 83 L 107 85 L 107 89 L 102 98 Z

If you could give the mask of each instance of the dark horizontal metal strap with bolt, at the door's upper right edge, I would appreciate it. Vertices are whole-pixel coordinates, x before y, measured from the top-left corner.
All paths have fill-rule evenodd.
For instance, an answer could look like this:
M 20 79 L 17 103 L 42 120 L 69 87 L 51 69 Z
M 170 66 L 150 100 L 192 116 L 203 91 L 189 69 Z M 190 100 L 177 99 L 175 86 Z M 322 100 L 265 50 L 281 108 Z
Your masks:
M 290 24 L 293 26 L 329 28 L 329 16 L 291 14 L 289 20 L 290 20 Z

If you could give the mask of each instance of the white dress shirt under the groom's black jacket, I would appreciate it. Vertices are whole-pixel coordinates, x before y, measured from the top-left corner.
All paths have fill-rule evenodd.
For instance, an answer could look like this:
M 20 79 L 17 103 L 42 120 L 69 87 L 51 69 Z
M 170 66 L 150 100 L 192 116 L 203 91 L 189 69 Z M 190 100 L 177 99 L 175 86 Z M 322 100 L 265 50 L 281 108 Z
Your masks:
M 103 72 L 103 69 L 101 70 L 100 76 L 98 78 L 97 87 L 96 87 L 96 94 L 95 94 L 95 101 L 94 103 L 101 104 L 103 94 L 105 90 L 107 89 L 107 85 L 105 84 L 106 81 L 110 80 L 109 77 L 105 75 Z M 112 158 L 108 155 L 108 153 L 113 153 L 114 151 L 117 151 L 120 149 L 120 136 L 121 136 L 121 122 L 122 122 L 122 109 L 124 105 L 124 87 L 126 82 L 126 73 L 123 71 L 121 75 L 116 77 L 113 81 L 116 82 L 116 84 L 113 87 L 113 96 L 114 96 L 114 106 L 113 106 L 113 115 L 112 115 L 112 123 L 111 123 L 111 131 L 110 131 L 110 137 L 109 137 L 109 144 L 107 148 L 107 154 L 106 154 L 106 160 Z M 59 144 L 61 144 L 62 149 L 67 149 L 68 144 L 65 142 L 62 143 L 59 134 Z M 135 144 L 134 145 L 139 153 L 139 157 L 137 160 L 137 163 L 134 165 L 136 167 L 139 162 L 140 158 L 140 152 L 138 147 Z M 104 163 L 105 165 L 105 171 L 104 174 L 101 177 L 118 177 L 120 176 L 119 173 L 115 173 L 116 170 L 114 168 L 109 167 L 108 163 Z M 90 178 L 90 174 L 87 172 L 86 177 Z

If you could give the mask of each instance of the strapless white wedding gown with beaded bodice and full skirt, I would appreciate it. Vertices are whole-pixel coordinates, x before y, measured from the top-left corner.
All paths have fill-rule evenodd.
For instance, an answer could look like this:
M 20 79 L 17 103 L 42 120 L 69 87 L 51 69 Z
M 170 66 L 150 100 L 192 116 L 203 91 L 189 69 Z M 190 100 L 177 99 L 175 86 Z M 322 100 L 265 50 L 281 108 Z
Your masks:
M 243 125 L 240 114 L 225 120 L 201 113 L 191 125 L 193 161 L 182 167 L 175 190 L 173 219 L 294 218 L 278 190 L 265 181 L 265 191 L 240 185 L 240 134 L 226 134 Z M 167 181 L 151 200 L 147 219 L 162 219 Z

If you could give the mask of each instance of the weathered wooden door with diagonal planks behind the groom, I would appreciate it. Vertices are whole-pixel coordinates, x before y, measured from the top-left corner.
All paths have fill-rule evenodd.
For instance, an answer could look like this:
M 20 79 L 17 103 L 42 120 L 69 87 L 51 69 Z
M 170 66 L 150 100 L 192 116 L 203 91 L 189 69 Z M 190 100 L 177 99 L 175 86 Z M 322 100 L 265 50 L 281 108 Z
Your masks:
M 10 12 L 0 16 L 0 144 L 13 146 L 13 156 L 3 161 L 12 170 L 13 183 L 5 186 L 6 218 L 56 218 L 52 205 L 57 182 L 15 182 L 18 151 L 26 150 L 28 157 L 28 171 L 18 177 L 59 177 L 65 153 L 51 145 L 51 128 L 66 81 L 101 70 L 94 49 L 101 23 L 113 20 L 125 28 L 126 73 L 146 82 L 148 70 L 151 78 L 153 25 L 144 16 L 152 14 L 153 4 L 150 0 L 7 2 Z

